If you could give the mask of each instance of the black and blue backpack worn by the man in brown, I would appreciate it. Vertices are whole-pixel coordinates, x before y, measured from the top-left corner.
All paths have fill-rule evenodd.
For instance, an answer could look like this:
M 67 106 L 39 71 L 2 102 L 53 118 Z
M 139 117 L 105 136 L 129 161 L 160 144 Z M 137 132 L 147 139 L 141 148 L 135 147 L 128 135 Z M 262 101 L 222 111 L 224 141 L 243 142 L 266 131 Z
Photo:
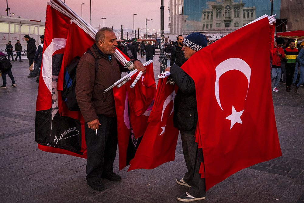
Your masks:
M 88 50 L 85 53 L 92 54 L 91 50 Z M 95 57 L 94 57 L 95 58 Z M 76 100 L 76 69 L 79 63 L 80 57 L 76 56 L 73 59 L 73 62 L 66 67 L 66 72 L 64 73 L 63 79 L 63 90 L 61 91 L 61 98 L 64 103 L 67 105 L 68 110 L 70 111 L 79 111 L 79 106 Z M 98 59 L 95 58 L 95 73 L 98 68 Z

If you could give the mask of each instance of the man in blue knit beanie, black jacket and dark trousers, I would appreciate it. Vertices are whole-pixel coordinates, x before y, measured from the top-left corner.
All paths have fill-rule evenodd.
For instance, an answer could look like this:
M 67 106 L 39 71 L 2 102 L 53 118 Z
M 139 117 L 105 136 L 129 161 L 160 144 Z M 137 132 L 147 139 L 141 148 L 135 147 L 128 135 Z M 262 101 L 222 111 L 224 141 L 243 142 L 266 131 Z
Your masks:
M 200 33 L 192 33 L 185 37 L 184 46 L 181 49 L 185 58 L 189 59 L 195 52 L 207 46 L 207 38 Z M 193 79 L 185 73 L 178 65 L 166 68 L 178 86 L 174 99 L 174 127 L 181 131 L 181 141 L 184 158 L 188 171 L 176 182 L 180 185 L 190 187 L 188 192 L 178 196 L 179 201 L 195 201 L 205 199 L 205 178 L 201 178 L 199 168 L 202 160 L 202 149 L 198 149 L 195 142 L 195 130 L 198 120 L 195 84 Z

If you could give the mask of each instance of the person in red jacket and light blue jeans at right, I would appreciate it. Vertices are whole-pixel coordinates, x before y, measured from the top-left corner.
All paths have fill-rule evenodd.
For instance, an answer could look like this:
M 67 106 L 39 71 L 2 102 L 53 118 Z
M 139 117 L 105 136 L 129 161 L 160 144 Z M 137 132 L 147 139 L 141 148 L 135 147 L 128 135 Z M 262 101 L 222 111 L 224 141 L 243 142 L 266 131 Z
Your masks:
M 282 37 L 278 37 L 275 40 L 274 48 L 273 48 L 271 82 L 275 79 L 275 84 L 272 89 L 272 91 L 274 92 L 279 91 L 277 87 L 281 78 L 281 59 L 285 58 L 285 53 L 284 50 L 282 49 L 283 44 L 284 44 L 284 39 Z

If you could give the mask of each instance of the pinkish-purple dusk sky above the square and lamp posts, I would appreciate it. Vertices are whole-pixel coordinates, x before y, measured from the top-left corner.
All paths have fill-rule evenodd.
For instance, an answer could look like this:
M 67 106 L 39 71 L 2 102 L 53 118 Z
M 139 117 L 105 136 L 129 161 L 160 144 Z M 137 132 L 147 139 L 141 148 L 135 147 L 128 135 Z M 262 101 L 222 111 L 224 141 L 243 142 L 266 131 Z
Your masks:
M 30 3 L 29 3 L 30 2 Z M 120 29 L 121 25 L 123 28 L 133 30 L 133 14 L 135 21 L 135 29 L 145 28 L 146 17 L 147 19 L 153 19 L 148 21 L 147 28 L 149 29 L 160 29 L 161 27 L 161 14 L 160 6 L 161 1 L 155 0 L 91 0 L 92 2 L 92 26 L 103 27 L 103 19 L 105 19 L 105 26 L 113 29 Z M 90 23 L 90 0 L 65 0 L 65 3 L 81 16 L 81 3 L 82 5 L 82 16 L 88 23 Z M 47 0 L 31 0 L 20 2 L 20 0 L 8 0 L 8 7 L 11 12 L 15 13 L 14 17 L 20 16 L 21 18 L 41 20 L 45 21 Z M 169 31 L 168 27 L 168 0 L 164 0 L 164 31 Z M 5 12 L 6 1 L 1 1 L 1 12 L 0 14 L 6 16 Z M 144 29 L 143 29 L 144 30 Z M 152 32 L 153 33 L 153 32 Z

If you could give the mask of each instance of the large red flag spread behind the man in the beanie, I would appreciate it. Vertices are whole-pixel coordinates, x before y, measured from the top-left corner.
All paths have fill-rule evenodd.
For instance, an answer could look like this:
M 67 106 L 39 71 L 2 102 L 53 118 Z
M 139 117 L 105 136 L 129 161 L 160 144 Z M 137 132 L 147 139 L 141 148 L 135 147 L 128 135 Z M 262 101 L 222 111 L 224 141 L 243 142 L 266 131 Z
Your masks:
M 220 49 L 215 42 L 181 67 L 195 81 L 196 140 L 203 149 L 206 190 L 239 170 L 282 155 L 269 91 L 269 31 L 268 18 L 241 27 L 221 39 Z M 245 76 L 248 66 L 250 79 Z M 244 110 L 238 113 L 241 123 L 228 120 L 233 120 L 232 107 Z

